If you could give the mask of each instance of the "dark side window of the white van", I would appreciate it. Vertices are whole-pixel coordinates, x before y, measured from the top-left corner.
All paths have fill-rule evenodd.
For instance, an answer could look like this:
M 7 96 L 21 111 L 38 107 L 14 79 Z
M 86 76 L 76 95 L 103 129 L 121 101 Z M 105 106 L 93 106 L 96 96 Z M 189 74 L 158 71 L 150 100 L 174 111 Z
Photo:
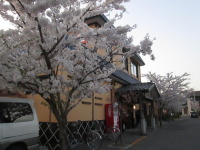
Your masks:
M 33 120 L 31 106 L 27 103 L 0 103 L 0 123 L 26 122 Z

